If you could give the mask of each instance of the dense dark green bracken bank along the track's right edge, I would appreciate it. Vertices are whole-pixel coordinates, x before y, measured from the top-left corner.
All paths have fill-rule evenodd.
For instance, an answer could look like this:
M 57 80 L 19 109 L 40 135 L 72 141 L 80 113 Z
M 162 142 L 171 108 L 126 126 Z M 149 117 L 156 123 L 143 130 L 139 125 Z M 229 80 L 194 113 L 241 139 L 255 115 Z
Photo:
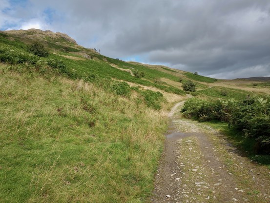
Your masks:
M 191 98 L 184 104 L 182 111 L 185 117 L 201 122 L 227 122 L 229 127 L 257 141 L 254 146 L 256 153 L 270 154 L 270 98 L 247 98 L 240 101 Z

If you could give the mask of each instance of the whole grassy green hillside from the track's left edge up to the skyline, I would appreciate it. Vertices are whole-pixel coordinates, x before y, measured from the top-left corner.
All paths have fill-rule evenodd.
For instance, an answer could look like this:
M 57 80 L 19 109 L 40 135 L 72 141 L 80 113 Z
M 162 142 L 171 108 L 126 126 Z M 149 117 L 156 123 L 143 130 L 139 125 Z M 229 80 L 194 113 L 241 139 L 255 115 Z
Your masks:
M 146 202 L 176 102 L 269 96 L 268 82 L 125 62 L 37 29 L 0 31 L 0 88 L 0 202 Z

